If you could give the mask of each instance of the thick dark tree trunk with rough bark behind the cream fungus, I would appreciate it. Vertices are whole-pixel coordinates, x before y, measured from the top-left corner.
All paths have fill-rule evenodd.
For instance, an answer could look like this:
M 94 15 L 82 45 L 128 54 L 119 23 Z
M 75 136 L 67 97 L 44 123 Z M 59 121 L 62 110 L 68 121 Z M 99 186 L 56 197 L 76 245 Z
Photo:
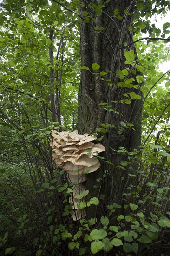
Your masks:
M 135 92 L 142 96 L 142 93 L 140 88 L 118 86 L 117 83 L 122 80 L 116 74 L 116 71 L 128 68 L 128 78 L 133 77 L 135 80 L 138 75 L 135 67 L 124 63 L 124 48 L 120 48 L 125 43 L 128 45 L 133 41 L 133 34 L 129 32 L 128 27 L 132 25 L 131 12 L 134 13 L 135 1 L 130 3 L 127 0 L 111 0 L 98 16 L 98 7 L 96 11 L 92 8 L 92 4 L 97 5 L 98 1 L 91 0 L 86 4 L 84 2 L 80 4 L 79 14 L 84 17 L 83 14 L 86 15 L 88 12 L 91 20 L 86 23 L 87 19 L 82 19 L 80 25 L 81 66 L 89 67 L 91 72 L 81 70 L 78 131 L 80 134 L 97 132 L 99 137 L 103 136 L 101 143 L 106 150 L 105 161 L 113 163 L 111 165 L 102 161 L 98 171 L 87 175 L 86 187 L 90 190 L 87 200 L 94 196 L 98 197 L 99 193 L 105 194 L 104 205 L 100 208 L 103 211 L 107 204 L 121 202 L 121 195 L 129 177 L 128 169 L 122 170 L 117 167 L 121 161 L 127 161 L 127 154 L 119 154 L 114 150 L 125 147 L 127 151 L 133 151 L 138 148 L 141 141 L 142 97 L 131 99 L 130 104 L 125 104 L 124 99 L 127 98 L 124 94 Z M 122 18 L 113 17 L 115 9 L 119 10 L 117 17 Z M 127 13 L 124 10 L 127 10 Z M 135 52 L 135 47 L 131 44 L 126 50 Z M 92 63 L 100 65 L 99 70 L 92 70 Z M 101 71 L 107 74 L 101 76 Z M 134 81 L 133 85 L 137 85 L 137 81 Z M 133 129 L 131 126 L 125 127 L 128 123 L 133 124 Z M 105 124 L 106 128 L 101 130 L 100 124 Z M 97 179 L 102 182 L 98 182 Z M 87 215 L 89 218 L 94 217 L 94 208 L 88 208 Z

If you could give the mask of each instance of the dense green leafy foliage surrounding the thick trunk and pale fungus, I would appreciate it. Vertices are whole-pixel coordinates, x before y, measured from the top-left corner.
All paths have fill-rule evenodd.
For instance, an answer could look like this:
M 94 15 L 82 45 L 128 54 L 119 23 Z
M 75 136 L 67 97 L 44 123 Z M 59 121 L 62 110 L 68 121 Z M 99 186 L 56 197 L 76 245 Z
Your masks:
M 100 15 L 108 1 L 97 2 L 92 8 Z M 170 56 L 170 23 L 160 29 L 150 21 L 167 13 L 168 1 L 134 2 L 137 12 L 129 31 L 134 32 L 137 58 L 122 47 L 126 64 L 143 73 L 137 77 L 144 82 L 142 144 L 138 151 L 117 150 L 126 156 L 118 168 L 128 173 L 120 203 L 107 205 L 100 219 L 94 215 L 74 222 L 72 184 L 52 162 L 49 141 L 53 128 L 77 128 L 80 1 L 1 1 L 0 255 L 170 255 L 170 70 L 159 70 Z M 83 15 L 90 26 L 92 17 Z M 118 9 L 113 18 L 123 19 Z M 98 70 L 97 64 L 92 69 Z M 120 86 L 131 84 L 127 69 L 117 74 Z M 105 72 L 100 75 L 105 79 Z M 135 94 L 125 97 L 121 104 L 127 107 L 137 99 Z M 109 110 L 105 102 L 102 106 Z M 122 122 L 119 133 L 132 126 Z M 98 141 L 108 128 L 101 124 Z M 99 159 L 110 168 L 114 164 Z M 107 179 L 105 170 L 99 181 Z M 87 206 L 98 210 L 104 201 L 101 194 Z

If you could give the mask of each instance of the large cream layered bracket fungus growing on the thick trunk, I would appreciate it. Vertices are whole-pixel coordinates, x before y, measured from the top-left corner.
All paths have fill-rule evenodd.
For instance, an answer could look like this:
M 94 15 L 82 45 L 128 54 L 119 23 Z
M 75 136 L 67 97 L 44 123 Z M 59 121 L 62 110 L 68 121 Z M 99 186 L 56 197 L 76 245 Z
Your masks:
M 57 132 L 52 131 L 53 141 L 50 142 L 52 150 L 52 159 L 61 169 L 67 172 L 68 182 L 75 182 L 73 194 L 70 197 L 70 203 L 73 204 L 75 214 L 73 220 L 83 218 L 85 209 L 78 209 L 80 202 L 85 202 L 85 197 L 78 199 L 77 195 L 82 195 L 85 186 L 82 182 L 86 181 L 88 173 L 96 171 L 100 167 L 100 162 L 96 158 L 100 152 L 105 151 L 105 147 L 92 141 L 96 140 L 95 135 L 89 136 L 78 134 L 78 131 Z

